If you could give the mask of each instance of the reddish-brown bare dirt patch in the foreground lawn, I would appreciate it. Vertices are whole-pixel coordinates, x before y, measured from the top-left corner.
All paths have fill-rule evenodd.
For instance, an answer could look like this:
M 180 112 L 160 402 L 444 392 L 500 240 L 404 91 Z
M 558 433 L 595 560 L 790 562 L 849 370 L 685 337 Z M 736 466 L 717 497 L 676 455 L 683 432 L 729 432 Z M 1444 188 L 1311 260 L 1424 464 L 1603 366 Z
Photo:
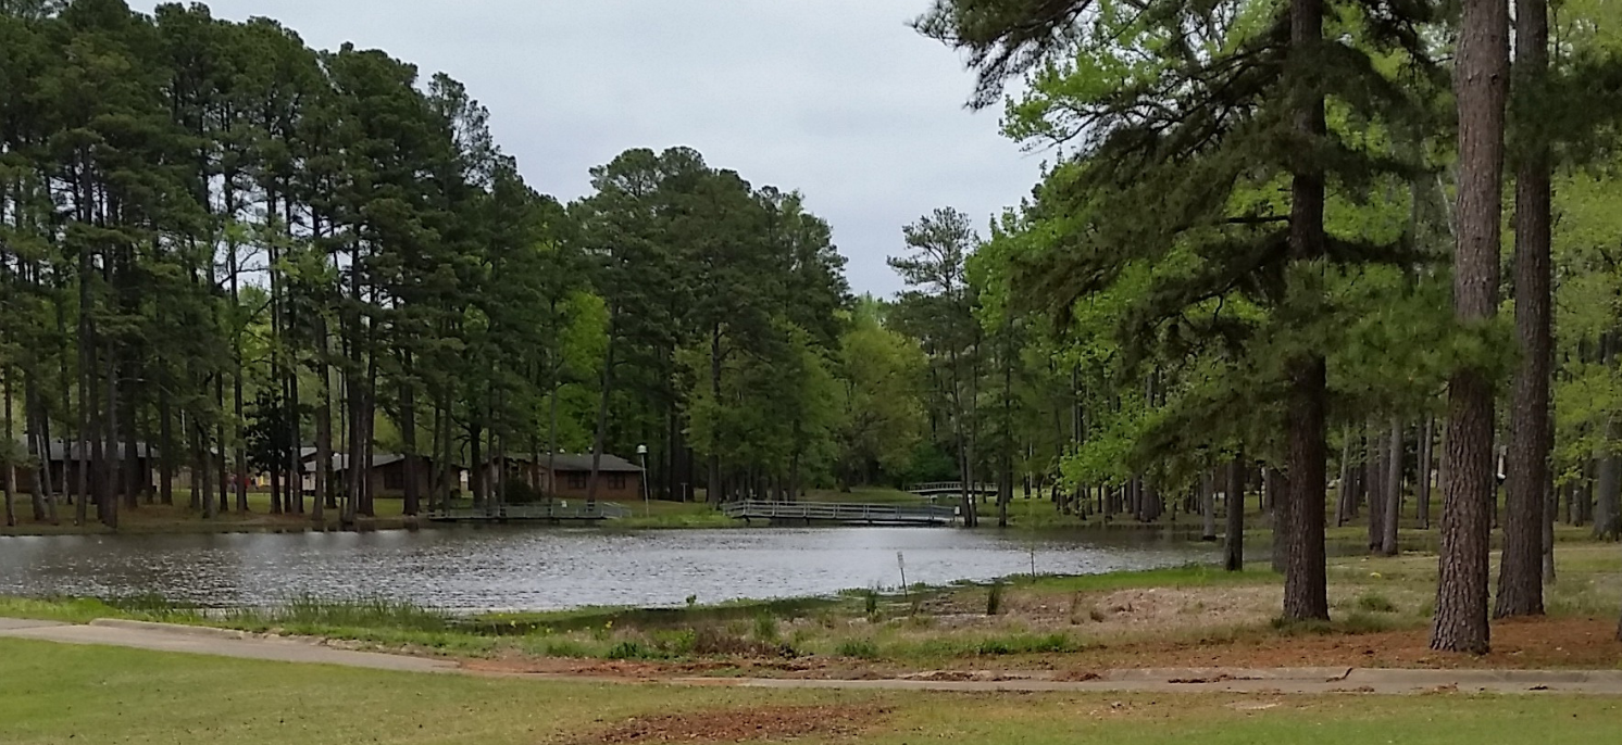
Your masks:
M 663 742 L 793 742 L 805 737 L 853 739 L 884 721 L 871 706 L 769 706 L 641 716 L 616 724 L 582 745 Z

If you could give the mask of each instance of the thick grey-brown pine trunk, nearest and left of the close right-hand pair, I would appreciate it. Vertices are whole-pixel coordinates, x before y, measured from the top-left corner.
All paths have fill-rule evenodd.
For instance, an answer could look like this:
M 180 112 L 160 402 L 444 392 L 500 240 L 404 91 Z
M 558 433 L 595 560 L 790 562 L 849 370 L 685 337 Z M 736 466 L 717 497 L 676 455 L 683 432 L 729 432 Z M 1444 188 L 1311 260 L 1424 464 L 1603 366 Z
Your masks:
M 1504 117 L 1508 92 L 1508 6 L 1465 0 L 1455 89 L 1458 99 L 1458 248 L 1453 311 L 1466 332 L 1497 314 L 1504 209 Z M 1473 361 L 1448 381 L 1447 483 L 1442 557 L 1431 648 L 1486 654 L 1487 559 L 1497 479 L 1492 463 L 1492 381 Z

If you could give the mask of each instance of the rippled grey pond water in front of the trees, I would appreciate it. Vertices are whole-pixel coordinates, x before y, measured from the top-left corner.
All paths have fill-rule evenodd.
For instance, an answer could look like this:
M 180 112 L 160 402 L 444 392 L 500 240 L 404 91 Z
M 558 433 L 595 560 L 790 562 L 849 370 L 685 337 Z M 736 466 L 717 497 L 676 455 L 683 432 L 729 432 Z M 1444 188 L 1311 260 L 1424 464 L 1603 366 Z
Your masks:
M 1103 573 L 1213 560 L 1181 538 L 965 530 L 431 530 L 420 533 L 0 538 L 0 594 L 159 594 L 211 607 L 313 594 L 423 606 L 563 609 L 829 594 L 1030 572 Z

